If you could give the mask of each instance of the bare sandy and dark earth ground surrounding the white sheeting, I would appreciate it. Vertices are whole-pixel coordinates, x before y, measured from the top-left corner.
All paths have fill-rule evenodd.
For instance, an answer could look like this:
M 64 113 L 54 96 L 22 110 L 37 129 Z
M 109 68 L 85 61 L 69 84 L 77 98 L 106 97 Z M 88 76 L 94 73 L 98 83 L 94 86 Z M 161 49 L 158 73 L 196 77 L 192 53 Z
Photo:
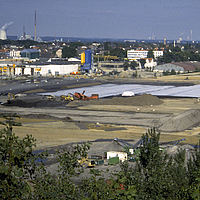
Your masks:
M 186 79 L 186 77 L 188 77 Z M 197 144 L 200 140 L 200 101 L 196 98 L 158 98 L 152 95 L 135 97 L 114 97 L 97 101 L 76 100 L 61 102 L 60 98 L 48 101 L 35 95 L 37 92 L 85 87 L 94 84 L 118 82 L 158 83 L 158 84 L 200 84 L 200 74 L 182 74 L 154 78 L 111 78 L 97 77 L 82 80 L 78 77 L 48 80 L 47 83 L 1 82 L 0 92 L 26 93 L 27 97 L 14 100 L 11 105 L 0 105 L 0 113 L 17 113 L 21 127 L 14 127 L 19 138 L 31 134 L 36 139 L 36 150 L 57 149 L 68 143 L 94 141 L 96 139 L 126 139 L 135 143 L 151 127 L 161 132 L 162 142 L 180 140 L 182 144 Z M 62 83 L 63 81 L 63 83 Z M 51 84 L 50 84 L 51 82 Z M 59 87 L 59 84 L 62 85 Z M 49 84 L 49 85 L 48 85 Z M 7 102 L 0 96 L 0 102 Z M 0 121 L 3 119 L 0 118 Z M 3 128 L 0 125 L 0 129 Z M 89 154 L 104 152 L 109 142 L 94 142 Z M 132 163 L 131 163 L 132 164 Z M 55 173 L 56 158 L 49 158 L 48 170 Z M 107 169 L 107 165 L 100 169 Z M 110 171 L 118 170 L 118 165 L 109 166 Z M 89 169 L 83 176 L 88 176 Z

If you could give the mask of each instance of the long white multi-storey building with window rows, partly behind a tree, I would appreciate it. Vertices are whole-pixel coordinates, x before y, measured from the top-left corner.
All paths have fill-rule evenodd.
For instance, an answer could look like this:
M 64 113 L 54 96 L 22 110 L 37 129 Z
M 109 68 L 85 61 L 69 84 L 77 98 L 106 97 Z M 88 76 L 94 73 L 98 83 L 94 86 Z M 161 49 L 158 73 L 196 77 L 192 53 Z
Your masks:
M 154 58 L 157 59 L 160 56 L 163 56 L 163 51 L 153 51 Z M 128 50 L 127 58 L 129 60 L 140 60 L 141 58 L 147 58 L 148 51 L 147 50 Z

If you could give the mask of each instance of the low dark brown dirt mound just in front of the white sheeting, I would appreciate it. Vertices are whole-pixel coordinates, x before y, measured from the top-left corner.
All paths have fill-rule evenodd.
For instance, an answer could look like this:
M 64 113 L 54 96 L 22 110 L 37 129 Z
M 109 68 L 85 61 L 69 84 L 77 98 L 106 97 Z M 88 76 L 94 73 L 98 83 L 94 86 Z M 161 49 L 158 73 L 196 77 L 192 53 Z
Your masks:
M 102 101 L 104 105 L 130 105 L 130 106 L 145 106 L 145 105 L 160 105 L 163 103 L 158 97 L 151 94 L 143 94 L 133 97 L 113 97 Z

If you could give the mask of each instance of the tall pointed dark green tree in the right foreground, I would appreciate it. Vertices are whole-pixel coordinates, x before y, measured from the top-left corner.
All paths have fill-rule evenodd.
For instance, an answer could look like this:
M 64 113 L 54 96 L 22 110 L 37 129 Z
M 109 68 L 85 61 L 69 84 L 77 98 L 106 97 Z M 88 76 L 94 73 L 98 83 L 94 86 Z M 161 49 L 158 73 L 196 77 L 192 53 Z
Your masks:
M 126 181 L 135 188 L 137 199 L 188 199 L 185 151 L 169 156 L 160 150 L 159 138 L 155 128 L 142 136 L 139 160 L 126 170 Z

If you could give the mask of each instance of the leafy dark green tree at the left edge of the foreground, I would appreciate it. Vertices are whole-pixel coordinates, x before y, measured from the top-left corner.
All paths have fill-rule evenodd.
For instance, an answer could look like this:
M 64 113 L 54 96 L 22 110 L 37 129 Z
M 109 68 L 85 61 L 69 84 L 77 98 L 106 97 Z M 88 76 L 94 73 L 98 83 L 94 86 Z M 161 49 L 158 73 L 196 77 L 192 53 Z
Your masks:
M 0 131 L 0 197 L 1 199 L 21 199 L 31 193 L 31 180 L 34 179 L 39 166 L 36 159 L 43 159 L 43 155 L 33 154 L 35 139 L 27 135 L 20 140 L 12 132 L 13 126 L 21 126 L 13 119 L 16 114 L 3 114 L 5 126 Z

